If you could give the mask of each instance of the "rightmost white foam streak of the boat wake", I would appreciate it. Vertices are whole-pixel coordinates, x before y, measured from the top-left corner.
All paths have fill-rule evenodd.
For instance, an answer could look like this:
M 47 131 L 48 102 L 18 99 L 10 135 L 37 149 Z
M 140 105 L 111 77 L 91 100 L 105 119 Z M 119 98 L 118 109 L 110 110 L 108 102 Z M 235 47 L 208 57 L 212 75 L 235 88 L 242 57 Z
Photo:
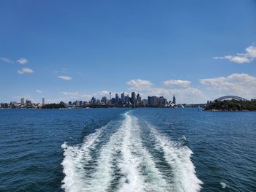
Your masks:
M 195 174 L 195 166 L 190 159 L 192 150 L 187 146 L 176 145 L 150 124 L 148 127 L 151 128 L 151 134 L 157 141 L 156 149 L 162 149 L 165 161 L 173 169 L 172 191 L 200 191 L 203 182 Z

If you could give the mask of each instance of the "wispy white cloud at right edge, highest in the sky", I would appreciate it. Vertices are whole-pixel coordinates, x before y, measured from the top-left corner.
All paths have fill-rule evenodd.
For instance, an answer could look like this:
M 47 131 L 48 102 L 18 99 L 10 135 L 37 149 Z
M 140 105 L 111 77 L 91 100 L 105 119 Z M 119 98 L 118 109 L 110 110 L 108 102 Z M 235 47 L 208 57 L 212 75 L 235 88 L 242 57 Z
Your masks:
M 227 59 L 236 64 L 250 63 L 256 58 L 256 47 L 249 46 L 245 49 L 246 53 L 236 53 L 236 55 L 225 55 L 223 57 L 214 57 L 216 59 Z

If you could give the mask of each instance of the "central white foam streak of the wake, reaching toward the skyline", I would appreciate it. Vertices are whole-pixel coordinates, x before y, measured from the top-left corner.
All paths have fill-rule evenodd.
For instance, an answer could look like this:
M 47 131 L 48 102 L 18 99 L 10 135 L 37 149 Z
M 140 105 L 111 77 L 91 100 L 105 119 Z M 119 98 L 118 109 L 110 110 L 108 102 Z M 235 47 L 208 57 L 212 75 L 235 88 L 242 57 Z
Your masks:
M 167 191 L 167 183 L 156 168 L 150 153 L 143 147 L 138 119 L 125 114 L 121 127 L 124 141 L 121 147 L 123 158 L 118 166 L 124 177 L 118 191 Z M 143 167 L 144 174 L 141 173 Z

